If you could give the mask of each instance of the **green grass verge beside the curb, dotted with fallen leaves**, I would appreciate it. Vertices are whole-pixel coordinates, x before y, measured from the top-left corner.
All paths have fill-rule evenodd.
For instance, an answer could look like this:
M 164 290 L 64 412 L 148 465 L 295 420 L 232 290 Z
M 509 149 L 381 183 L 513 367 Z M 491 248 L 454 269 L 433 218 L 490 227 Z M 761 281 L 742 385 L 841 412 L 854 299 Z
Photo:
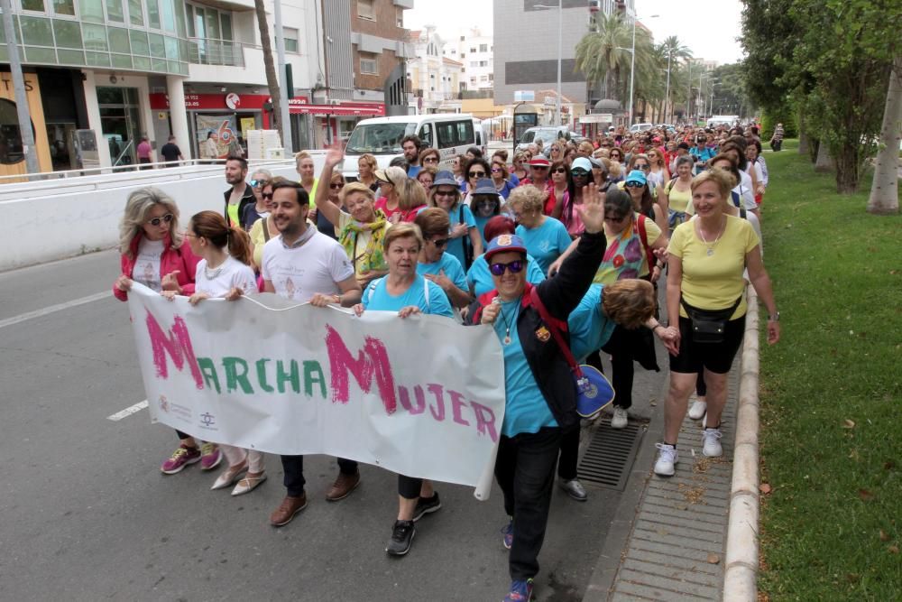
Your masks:
M 902 599 L 902 217 L 865 211 L 870 176 L 836 194 L 795 141 L 765 156 L 783 330 L 761 358 L 760 597 Z

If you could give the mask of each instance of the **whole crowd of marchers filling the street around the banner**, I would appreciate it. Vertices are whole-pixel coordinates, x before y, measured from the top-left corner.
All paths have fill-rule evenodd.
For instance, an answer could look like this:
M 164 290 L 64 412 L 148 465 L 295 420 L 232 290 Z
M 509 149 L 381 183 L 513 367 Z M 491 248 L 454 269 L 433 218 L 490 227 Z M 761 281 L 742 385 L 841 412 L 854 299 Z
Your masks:
M 655 338 L 669 356 L 665 432 L 654 472 L 672 476 L 686 412 L 702 420 L 703 454 L 723 454 L 726 383 L 744 332 L 750 283 L 768 311 L 769 343 L 779 314 L 761 259 L 760 207 L 769 177 L 758 130 L 687 127 L 640 134 L 622 128 L 575 144 L 530 144 L 512 156 L 478 148 L 448 157 L 414 135 L 380 168 L 363 155 L 348 181 L 340 144 L 320 173 L 297 155 L 299 181 L 250 173 L 226 160 L 225 208 L 201 211 L 182 227 L 161 190 L 134 191 L 120 227 L 121 275 L 197 304 L 272 292 L 358 316 L 419 313 L 491 328 L 503 352 L 505 413 L 495 464 L 508 520 L 508 600 L 530 599 L 552 497 L 576 501 L 580 420 L 566 349 L 603 369 L 616 390 L 611 427 L 630 421 L 635 363 L 659 370 Z M 510 162 L 509 162 L 510 159 Z M 344 171 L 348 171 L 344 165 Z M 304 269 L 300 269 L 304 268 Z M 658 285 L 666 289 L 663 307 Z M 661 320 L 662 317 L 666 321 Z M 544 334 L 543 334 L 544 333 Z M 695 394 L 692 407 L 690 397 Z M 213 489 L 252 492 L 266 480 L 263 454 L 177 431 L 179 447 L 161 470 L 216 468 Z M 308 504 L 302 456 L 282 456 L 285 496 L 270 522 L 281 527 Z M 353 458 L 337 458 L 326 498 L 361 482 Z M 441 508 L 433 484 L 398 476 L 398 514 L 386 552 L 410 551 L 416 523 Z

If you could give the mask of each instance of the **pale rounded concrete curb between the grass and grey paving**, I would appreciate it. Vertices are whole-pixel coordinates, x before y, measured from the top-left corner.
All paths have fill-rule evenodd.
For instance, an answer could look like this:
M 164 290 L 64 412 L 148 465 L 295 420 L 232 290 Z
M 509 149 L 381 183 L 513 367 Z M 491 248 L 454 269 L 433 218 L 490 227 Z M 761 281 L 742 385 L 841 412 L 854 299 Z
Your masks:
M 723 577 L 723 600 L 758 599 L 759 519 L 759 317 L 758 295 L 749 287 L 742 371 L 736 412 L 736 442 L 730 489 L 730 520 Z

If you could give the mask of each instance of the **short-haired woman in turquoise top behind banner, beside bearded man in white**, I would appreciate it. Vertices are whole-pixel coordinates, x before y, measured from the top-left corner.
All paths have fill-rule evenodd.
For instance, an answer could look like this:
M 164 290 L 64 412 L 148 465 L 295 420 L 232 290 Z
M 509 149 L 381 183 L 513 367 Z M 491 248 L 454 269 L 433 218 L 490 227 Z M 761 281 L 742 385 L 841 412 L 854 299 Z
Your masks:
M 423 235 L 414 224 L 392 226 L 382 241 L 382 250 L 389 265 L 389 273 L 366 287 L 361 302 L 354 305 L 354 313 L 364 311 L 397 311 L 401 319 L 419 313 L 453 318 L 445 292 L 435 282 L 417 273 L 417 260 L 424 245 Z M 326 295 L 314 295 L 310 304 L 325 307 L 334 300 Z M 424 514 L 441 508 L 438 494 L 431 481 L 398 475 L 398 519 L 391 529 L 385 551 L 403 556 L 410 551 L 410 543 L 417 533 L 414 523 Z

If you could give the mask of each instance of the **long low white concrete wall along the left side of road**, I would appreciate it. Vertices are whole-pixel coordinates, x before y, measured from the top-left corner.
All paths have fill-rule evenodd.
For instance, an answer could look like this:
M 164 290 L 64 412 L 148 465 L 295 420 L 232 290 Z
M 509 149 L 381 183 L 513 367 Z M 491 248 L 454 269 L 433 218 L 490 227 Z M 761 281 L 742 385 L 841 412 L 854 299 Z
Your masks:
M 318 155 L 317 172 L 323 158 Z M 293 161 L 252 164 L 296 180 Z M 119 219 L 132 190 L 155 186 L 179 204 L 181 222 L 198 211 L 223 210 L 222 165 L 127 171 L 0 187 L 0 271 L 118 244 Z

